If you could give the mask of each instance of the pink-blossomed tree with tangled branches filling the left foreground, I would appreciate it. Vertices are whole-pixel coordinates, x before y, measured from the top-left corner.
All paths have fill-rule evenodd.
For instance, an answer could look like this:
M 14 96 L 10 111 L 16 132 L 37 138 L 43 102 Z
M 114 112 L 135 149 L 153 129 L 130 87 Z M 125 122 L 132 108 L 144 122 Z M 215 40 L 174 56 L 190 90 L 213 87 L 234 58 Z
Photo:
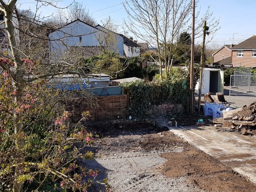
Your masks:
M 49 89 L 48 82 L 55 75 L 89 74 L 81 73 L 83 68 L 75 62 L 51 63 L 39 54 L 33 60 L 30 58 L 30 53 L 46 51 L 45 47 L 36 45 L 48 41 L 41 33 L 47 25 L 45 18 L 37 15 L 38 9 L 49 5 L 57 8 L 55 2 L 37 0 L 35 15 L 20 17 L 27 21 L 26 28 L 14 22 L 18 16 L 17 0 L 0 0 L 0 11 L 5 16 L 0 23 L 4 25 L 1 31 L 8 39 L 1 41 L 6 49 L 2 49 L 0 56 L 0 191 L 12 188 L 13 192 L 20 192 L 24 187 L 31 187 L 29 183 L 36 186 L 32 190 L 38 191 L 49 178 L 60 182 L 56 188 L 86 191 L 98 174 L 76 164 L 76 159 L 92 158 L 93 153 L 80 153 L 74 142 L 82 141 L 86 147 L 94 142 L 94 136 L 81 121 L 75 126 L 69 123 L 69 113 L 60 100 L 64 93 Z M 31 26 L 41 30 L 31 30 Z M 28 51 L 31 46 L 24 45 L 26 40 L 20 41 L 20 37 L 30 37 L 33 40 L 30 45 L 37 50 Z M 83 119 L 88 115 L 84 113 Z M 106 180 L 104 184 L 109 190 Z

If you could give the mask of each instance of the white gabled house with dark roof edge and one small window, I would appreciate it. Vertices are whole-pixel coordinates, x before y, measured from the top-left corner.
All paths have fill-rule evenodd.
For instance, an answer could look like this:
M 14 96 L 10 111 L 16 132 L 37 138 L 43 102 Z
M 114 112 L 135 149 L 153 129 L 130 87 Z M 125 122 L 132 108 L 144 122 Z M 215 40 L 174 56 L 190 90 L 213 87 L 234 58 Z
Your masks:
M 105 30 L 100 30 L 77 19 L 58 30 L 49 32 L 51 57 L 72 54 L 79 57 L 90 57 L 101 54 L 107 47 L 107 42 L 105 42 L 107 35 Z M 123 44 L 119 41 L 117 39 L 117 49 L 114 51 L 123 55 Z

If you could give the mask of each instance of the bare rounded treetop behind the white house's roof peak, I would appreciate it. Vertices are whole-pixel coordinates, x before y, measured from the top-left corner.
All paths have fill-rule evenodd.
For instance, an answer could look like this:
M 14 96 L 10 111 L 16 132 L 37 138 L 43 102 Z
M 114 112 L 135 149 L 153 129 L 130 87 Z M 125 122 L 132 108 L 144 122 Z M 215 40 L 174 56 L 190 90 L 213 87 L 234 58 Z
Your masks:
M 89 10 L 86 8 L 86 6 L 83 5 L 83 3 L 72 4 L 68 9 L 68 15 L 69 19 L 71 19 L 72 21 L 80 19 L 81 21 L 88 23 L 92 26 L 94 26 L 96 23 L 95 19 L 93 19 L 92 16 L 89 14 Z

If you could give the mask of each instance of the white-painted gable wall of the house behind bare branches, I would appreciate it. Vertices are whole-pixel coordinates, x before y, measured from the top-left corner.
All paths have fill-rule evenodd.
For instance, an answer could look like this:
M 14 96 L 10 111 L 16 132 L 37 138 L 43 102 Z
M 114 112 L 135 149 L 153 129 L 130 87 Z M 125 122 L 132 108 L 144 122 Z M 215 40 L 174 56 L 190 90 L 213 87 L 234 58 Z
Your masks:
M 64 55 L 72 48 L 84 48 L 81 49 L 82 51 L 88 51 L 89 48 L 96 52 L 96 49 L 99 50 L 106 45 L 105 42 L 99 39 L 106 35 L 107 33 L 104 30 L 99 30 L 95 26 L 77 19 L 48 34 L 50 53 L 52 56 L 54 56 L 53 53 Z M 122 46 L 116 51 L 123 55 Z

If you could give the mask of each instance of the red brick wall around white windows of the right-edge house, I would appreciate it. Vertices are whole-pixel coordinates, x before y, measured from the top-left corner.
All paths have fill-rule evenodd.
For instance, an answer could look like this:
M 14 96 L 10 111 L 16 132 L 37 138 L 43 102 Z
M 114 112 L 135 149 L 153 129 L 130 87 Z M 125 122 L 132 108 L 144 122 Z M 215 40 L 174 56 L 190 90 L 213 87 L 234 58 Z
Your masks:
M 233 67 L 252 67 L 256 66 L 256 57 L 252 57 L 252 50 L 244 50 L 243 57 L 237 57 L 237 51 L 232 51 Z

